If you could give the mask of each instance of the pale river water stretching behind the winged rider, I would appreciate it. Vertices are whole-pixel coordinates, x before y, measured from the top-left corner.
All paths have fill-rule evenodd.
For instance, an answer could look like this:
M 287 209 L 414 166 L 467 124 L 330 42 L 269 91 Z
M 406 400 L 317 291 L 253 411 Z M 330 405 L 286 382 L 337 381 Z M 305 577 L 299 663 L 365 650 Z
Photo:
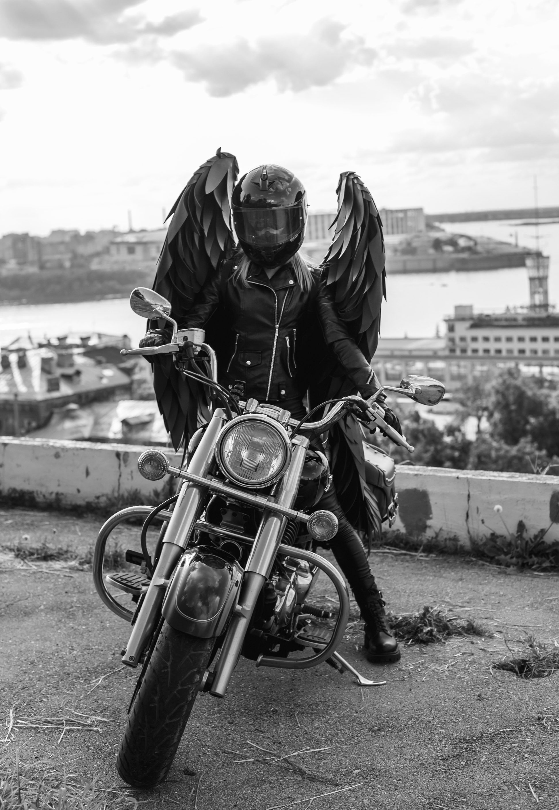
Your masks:
M 519 245 L 536 246 L 536 229 L 518 220 L 468 222 L 445 225 L 446 230 L 470 236 L 488 236 Z M 559 302 L 559 224 L 540 224 L 540 249 L 550 256 L 549 301 Z M 523 267 L 468 273 L 418 273 L 388 275 L 388 300 L 382 308 L 383 337 L 433 337 L 445 332 L 444 318 L 454 305 L 475 309 L 504 309 L 526 305 L 529 300 L 527 270 Z M 42 339 L 67 332 L 87 335 L 93 331 L 130 336 L 137 345 L 145 319 L 135 315 L 128 298 L 83 301 L 79 304 L 0 306 L 0 346 L 19 335 Z

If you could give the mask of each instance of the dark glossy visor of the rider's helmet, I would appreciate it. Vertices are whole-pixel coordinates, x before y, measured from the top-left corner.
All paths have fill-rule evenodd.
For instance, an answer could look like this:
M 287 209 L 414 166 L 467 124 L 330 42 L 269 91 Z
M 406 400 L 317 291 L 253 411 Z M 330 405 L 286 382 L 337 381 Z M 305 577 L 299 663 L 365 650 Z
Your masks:
M 270 248 L 296 237 L 305 227 L 306 213 L 302 205 L 284 208 L 233 207 L 233 224 L 241 242 Z

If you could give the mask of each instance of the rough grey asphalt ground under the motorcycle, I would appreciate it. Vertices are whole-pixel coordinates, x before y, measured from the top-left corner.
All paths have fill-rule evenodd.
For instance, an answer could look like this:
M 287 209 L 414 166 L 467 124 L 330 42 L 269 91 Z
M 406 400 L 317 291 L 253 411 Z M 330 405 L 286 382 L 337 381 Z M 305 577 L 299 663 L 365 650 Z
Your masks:
M 99 526 L 3 509 L 0 544 L 47 540 L 81 555 Z M 489 668 L 510 658 L 505 642 L 523 654 L 527 633 L 559 644 L 559 578 L 455 557 L 375 553 L 372 565 L 387 609 L 438 605 L 479 620 L 485 635 L 406 646 L 399 663 L 378 667 L 350 625 L 340 653 L 387 681 L 369 689 L 326 665 L 257 669 L 241 659 L 224 700 L 198 697 L 168 780 L 130 795 L 145 808 L 197 810 L 297 810 L 321 795 L 313 810 L 559 808 L 559 673 L 522 680 Z M 315 599 L 329 595 L 319 585 Z M 2 718 L 9 727 L 13 709 L 16 721 L 35 721 L 0 731 L 2 748 L 125 788 L 115 758 L 137 672 L 120 665 L 128 625 L 100 602 L 91 572 L 0 555 L 0 628 Z M 92 717 L 104 719 L 70 729 L 68 718 Z M 66 718 L 62 739 L 60 728 L 31 727 L 45 718 L 62 731 Z

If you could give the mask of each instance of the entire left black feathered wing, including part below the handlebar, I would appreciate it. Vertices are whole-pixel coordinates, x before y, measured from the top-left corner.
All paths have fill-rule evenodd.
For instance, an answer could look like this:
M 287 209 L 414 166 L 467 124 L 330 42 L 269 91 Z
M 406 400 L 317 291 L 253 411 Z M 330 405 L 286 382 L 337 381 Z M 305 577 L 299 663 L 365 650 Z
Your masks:
M 184 318 L 203 285 L 233 250 L 231 194 L 238 173 L 235 156 L 218 149 L 190 177 L 169 212 L 173 218 L 157 262 L 153 288 L 170 301 L 175 320 Z M 165 326 L 164 322 L 159 326 Z M 212 319 L 206 333 L 207 343 L 217 349 L 222 339 L 219 318 Z M 198 407 L 203 416 L 208 415 L 207 395 L 202 386 L 177 371 L 169 355 L 154 363 L 153 386 L 177 450 L 198 427 Z

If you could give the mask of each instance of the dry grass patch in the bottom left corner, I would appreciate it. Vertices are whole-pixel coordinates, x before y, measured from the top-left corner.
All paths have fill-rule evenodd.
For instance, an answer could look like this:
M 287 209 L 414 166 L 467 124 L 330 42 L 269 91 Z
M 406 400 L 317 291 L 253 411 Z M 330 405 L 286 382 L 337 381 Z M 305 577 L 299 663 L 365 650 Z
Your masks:
M 129 810 L 138 808 L 134 796 L 117 787 L 100 787 L 96 778 L 83 784 L 52 761 L 31 765 L 17 749 L 0 754 L 0 810 Z

